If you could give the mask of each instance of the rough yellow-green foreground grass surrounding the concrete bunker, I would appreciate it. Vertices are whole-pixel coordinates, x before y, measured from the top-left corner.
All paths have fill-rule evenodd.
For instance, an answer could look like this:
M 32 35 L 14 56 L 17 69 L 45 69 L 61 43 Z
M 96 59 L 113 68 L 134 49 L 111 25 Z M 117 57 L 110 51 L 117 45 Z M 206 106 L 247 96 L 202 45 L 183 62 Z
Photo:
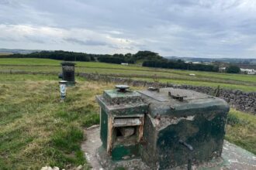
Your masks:
M 114 84 L 77 81 L 61 103 L 57 76 L 0 74 L 0 169 L 86 168 L 83 129 L 99 124 L 95 95 Z M 256 154 L 256 117 L 231 110 L 227 122 L 226 139 Z

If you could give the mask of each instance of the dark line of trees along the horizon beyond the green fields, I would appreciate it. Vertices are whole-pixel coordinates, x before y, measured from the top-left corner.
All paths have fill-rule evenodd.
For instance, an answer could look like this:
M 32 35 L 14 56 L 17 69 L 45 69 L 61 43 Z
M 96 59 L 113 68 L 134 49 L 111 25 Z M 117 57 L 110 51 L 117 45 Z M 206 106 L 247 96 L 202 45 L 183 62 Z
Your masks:
M 139 51 L 135 54 L 88 54 L 88 53 L 75 53 L 67 51 L 41 51 L 29 54 L 12 54 L 9 56 L 0 56 L 8 58 L 40 58 L 40 59 L 60 59 L 66 61 L 99 61 L 103 63 L 137 63 L 142 62 L 142 66 L 157 67 L 157 68 L 168 68 L 168 69 L 179 69 L 179 70 L 199 70 L 199 71 L 210 71 L 218 72 L 219 66 L 217 65 L 206 65 L 206 64 L 195 64 L 185 63 L 181 59 L 165 59 L 159 56 L 158 53 L 150 51 Z

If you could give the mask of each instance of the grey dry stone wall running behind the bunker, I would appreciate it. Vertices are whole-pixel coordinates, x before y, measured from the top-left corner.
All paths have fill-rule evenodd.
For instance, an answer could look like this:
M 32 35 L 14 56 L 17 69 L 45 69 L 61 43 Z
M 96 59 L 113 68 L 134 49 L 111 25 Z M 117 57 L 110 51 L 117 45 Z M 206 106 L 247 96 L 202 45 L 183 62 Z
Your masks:
M 195 87 L 190 85 L 175 85 L 171 83 L 154 83 L 144 80 L 132 80 L 129 78 L 119 78 L 113 76 L 103 76 L 94 73 L 78 73 L 78 76 L 85 77 L 88 80 L 100 80 L 106 83 L 126 83 L 131 86 L 144 86 L 144 87 L 174 87 L 181 89 L 195 90 L 200 93 L 207 93 L 209 95 L 214 95 L 215 90 L 212 87 Z M 237 110 L 251 112 L 256 114 L 256 92 L 246 93 L 241 90 L 219 90 L 219 97 L 223 100 L 226 100 L 231 107 L 236 108 Z

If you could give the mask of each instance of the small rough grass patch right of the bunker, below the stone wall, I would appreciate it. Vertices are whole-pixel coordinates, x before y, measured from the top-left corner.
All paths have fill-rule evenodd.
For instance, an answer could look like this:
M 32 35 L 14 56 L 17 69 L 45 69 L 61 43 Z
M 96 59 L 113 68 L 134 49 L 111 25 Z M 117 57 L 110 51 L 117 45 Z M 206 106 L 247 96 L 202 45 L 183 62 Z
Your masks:
M 256 117 L 231 109 L 227 117 L 225 138 L 256 155 Z

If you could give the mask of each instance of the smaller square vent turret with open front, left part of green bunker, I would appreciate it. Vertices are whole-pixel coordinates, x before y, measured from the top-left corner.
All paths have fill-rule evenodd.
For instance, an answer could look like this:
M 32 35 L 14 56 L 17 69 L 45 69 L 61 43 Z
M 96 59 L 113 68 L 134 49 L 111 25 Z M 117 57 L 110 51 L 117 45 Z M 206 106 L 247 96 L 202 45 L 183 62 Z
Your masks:
M 105 90 L 96 99 L 101 107 L 102 147 L 113 161 L 140 157 L 147 104 L 137 91 L 124 85 Z

